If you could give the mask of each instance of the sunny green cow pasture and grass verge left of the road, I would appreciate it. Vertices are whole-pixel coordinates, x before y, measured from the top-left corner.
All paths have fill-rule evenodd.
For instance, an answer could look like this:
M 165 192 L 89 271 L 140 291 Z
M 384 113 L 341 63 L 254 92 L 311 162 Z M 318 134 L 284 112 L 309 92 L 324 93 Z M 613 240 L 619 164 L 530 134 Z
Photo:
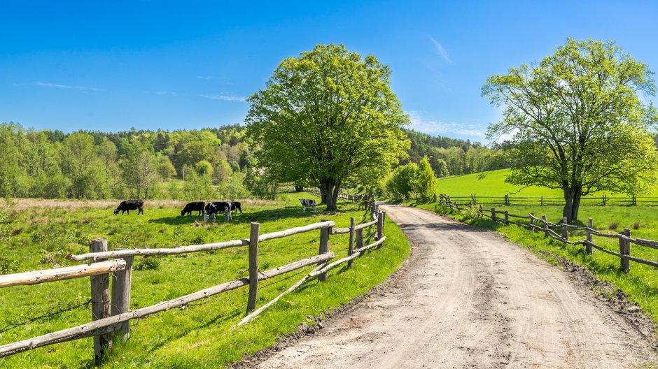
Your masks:
M 349 218 L 363 222 L 356 204 L 339 203 L 341 212 L 302 213 L 298 198 L 307 193 L 284 194 L 281 201 L 243 201 L 244 215 L 228 224 L 202 224 L 200 217 L 181 217 L 182 203 L 147 202 L 144 215 L 112 215 L 118 202 L 80 204 L 34 200 L 0 204 L 10 214 L 8 238 L 0 240 L 1 273 L 17 273 L 54 266 L 74 265 L 69 253 L 88 251 L 92 238 L 108 238 L 109 249 L 118 247 L 174 247 L 248 238 L 250 222 L 260 222 L 260 232 L 289 229 L 330 219 L 349 226 Z M 92 205 L 92 206 L 90 206 Z M 221 220 L 220 220 L 221 219 Z M 356 259 L 353 268 L 339 267 L 327 282 L 310 280 L 265 310 L 251 324 L 231 328 L 244 317 L 248 289 L 190 303 L 146 319 L 131 321 L 130 340 L 115 345 L 101 368 L 221 368 L 258 349 L 276 343 L 276 337 L 296 331 L 311 317 L 339 307 L 369 290 L 392 273 L 409 254 L 409 244 L 393 222 L 386 221 L 386 242 Z M 373 230 L 374 232 L 374 230 Z M 364 234 L 366 236 L 366 234 Z M 371 233 L 367 233 L 372 237 Z M 349 234 L 330 238 L 337 258 L 346 256 Z M 370 240 L 366 240 L 368 242 Z M 259 267 L 267 270 L 318 253 L 319 231 L 267 240 L 259 245 Z M 312 270 L 312 266 L 262 282 L 258 306 Z M 248 275 L 247 247 L 176 256 L 135 258 L 131 309 L 235 280 Z M 83 324 L 91 319 L 88 278 L 33 286 L 0 289 L 0 345 Z M 69 311 L 66 310 L 73 307 Z M 22 324 L 44 315 L 56 312 Z M 117 342 L 118 343 L 118 342 Z M 42 347 L 0 359 L 2 368 L 94 368 L 92 338 Z

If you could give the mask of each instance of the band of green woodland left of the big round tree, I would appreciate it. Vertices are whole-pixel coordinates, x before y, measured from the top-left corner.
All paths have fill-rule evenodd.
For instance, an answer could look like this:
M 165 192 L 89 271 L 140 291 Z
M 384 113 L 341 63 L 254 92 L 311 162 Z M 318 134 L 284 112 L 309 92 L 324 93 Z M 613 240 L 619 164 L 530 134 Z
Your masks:
M 192 131 L 104 133 L 35 131 L 0 124 L 0 196 L 38 198 L 182 198 L 199 162 L 222 186 L 254 163 L 239 125 Z M 196 160 L 196 161 L 195 161 Z

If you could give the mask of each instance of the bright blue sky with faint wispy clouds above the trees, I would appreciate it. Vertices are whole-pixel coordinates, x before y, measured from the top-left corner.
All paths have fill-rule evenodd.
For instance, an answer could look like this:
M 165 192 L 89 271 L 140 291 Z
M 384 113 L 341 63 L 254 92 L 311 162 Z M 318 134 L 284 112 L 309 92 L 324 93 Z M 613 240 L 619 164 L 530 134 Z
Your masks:
M 344 43 L 391 67 L 412 128 L 486 142 L 487 76 L 565 38 L 612 39 L 658 70 L 651 1 L 0 0 L 0 122 L 35 129 L 241 123 L 279 61 Z M 652 98 L 652 101 L 654 99 Z

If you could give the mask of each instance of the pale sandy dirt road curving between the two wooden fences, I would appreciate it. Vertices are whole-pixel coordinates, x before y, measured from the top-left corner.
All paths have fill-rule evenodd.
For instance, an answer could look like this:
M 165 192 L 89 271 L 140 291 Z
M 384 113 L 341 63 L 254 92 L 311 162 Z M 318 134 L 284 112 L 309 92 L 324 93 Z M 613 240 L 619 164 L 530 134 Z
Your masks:
M 495 233 L 384 207 L 412 243 L 386 291 L 259 368 L 647 368 L 636 329 Z

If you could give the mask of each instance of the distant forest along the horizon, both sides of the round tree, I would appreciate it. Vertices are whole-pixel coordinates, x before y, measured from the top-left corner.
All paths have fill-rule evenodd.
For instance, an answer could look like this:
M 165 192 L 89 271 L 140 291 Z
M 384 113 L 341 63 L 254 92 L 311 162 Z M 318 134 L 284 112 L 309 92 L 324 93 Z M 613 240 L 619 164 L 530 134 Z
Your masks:
M 498 150 L 406 131 L 409 158 L 437 175 L 486 171 Z M 244 127 L 64 133 L 0 124 L 0 196 L 34 198 L 272 198 L 279 183 L 259 168 Z M 439 171 L 440 161 L 446 171 Z

